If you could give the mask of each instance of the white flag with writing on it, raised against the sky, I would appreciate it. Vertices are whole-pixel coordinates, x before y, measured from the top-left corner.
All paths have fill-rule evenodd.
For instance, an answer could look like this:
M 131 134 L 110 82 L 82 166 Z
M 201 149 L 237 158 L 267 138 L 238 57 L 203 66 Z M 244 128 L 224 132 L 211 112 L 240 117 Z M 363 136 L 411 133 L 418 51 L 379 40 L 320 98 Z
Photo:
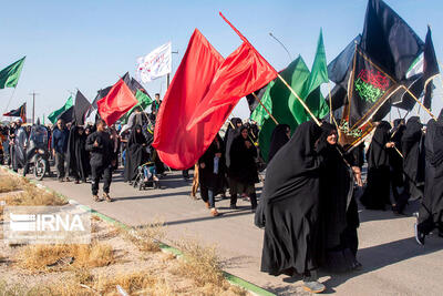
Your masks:
M 171 73 L 171 41 L 137 59 L 136 76 L 147 83 Z

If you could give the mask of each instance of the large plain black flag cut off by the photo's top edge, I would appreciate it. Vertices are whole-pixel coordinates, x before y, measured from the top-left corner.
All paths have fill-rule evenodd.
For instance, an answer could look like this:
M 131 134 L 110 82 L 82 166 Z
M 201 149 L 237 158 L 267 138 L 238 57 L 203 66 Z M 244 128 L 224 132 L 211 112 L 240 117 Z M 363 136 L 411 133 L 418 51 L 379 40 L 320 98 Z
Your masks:
M 369 0 L 361 48 L 396 81 L 423 51 L 423 41 L 382 0 Z

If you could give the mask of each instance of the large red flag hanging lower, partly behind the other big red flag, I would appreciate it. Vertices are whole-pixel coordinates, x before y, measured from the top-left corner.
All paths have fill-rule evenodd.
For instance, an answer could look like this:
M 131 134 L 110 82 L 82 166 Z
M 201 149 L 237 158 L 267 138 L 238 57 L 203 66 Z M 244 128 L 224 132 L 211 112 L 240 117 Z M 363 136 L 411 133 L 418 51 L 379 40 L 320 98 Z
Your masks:
M 158 111 L 153 146 L 161 160 L 176 170 L 193 166 L 213 142 L 218 123 L 186 126 L 209 90 L 223 57 L 196 29 Z

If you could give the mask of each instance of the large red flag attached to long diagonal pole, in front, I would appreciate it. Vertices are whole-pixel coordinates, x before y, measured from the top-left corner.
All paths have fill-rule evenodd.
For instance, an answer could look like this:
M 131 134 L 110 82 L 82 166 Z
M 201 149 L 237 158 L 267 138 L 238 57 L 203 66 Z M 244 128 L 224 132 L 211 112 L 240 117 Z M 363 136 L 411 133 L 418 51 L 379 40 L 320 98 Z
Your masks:
M 202 122 L 210 122 L 220 129 L 241 98 L 261 89 L 275 78 L 276 70 L 248 42 L 244 42 L 218 69 L 187 129 L 192 130 Z

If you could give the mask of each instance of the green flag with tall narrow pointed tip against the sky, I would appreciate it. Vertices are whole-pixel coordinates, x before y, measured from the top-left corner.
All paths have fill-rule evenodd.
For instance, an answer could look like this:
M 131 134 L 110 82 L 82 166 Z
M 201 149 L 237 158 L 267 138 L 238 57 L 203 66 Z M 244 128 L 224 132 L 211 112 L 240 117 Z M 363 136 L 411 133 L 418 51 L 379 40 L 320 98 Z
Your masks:
M 295 89 L 296 93 L 305 101 L 316 118 L 322 119 L 329 112 L 328 104 L 320 92 L 320 85 L 328 82 L 328 64 L 326 61 L 323 34 L 320 30 L 320 35 L 317 42 L 317 53 L 312 63 L 311 73 L 305 80 L 301 89 Z M 289 108 L 291 109 L 293 116 L 297 119 L 298 124 L 311 120 L 311 115 L 293 95 L 290 99 Z

